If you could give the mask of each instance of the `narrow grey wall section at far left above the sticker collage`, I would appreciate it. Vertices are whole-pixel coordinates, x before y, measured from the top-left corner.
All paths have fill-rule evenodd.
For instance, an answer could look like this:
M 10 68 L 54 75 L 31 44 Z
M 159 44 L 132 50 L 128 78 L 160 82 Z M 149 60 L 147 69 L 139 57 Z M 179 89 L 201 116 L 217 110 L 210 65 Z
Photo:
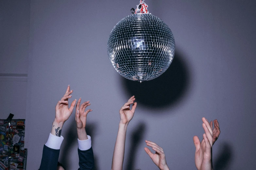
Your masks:
M 30 0 L 0 1 L 0 119 L 26 118 Z

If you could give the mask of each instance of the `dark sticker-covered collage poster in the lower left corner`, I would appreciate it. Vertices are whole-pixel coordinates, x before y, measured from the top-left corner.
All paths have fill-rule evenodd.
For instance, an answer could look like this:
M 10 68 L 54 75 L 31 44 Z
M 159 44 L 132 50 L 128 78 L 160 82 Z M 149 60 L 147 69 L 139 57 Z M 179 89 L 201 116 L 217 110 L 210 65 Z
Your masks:
M 11 152 L 10 170 L 26 170 L 25 119 L 11 120 L 10 127 L 13 149 L 9 149 L 9 122 L 0 120 L 0 170 L 8 170 L 9 150 Z

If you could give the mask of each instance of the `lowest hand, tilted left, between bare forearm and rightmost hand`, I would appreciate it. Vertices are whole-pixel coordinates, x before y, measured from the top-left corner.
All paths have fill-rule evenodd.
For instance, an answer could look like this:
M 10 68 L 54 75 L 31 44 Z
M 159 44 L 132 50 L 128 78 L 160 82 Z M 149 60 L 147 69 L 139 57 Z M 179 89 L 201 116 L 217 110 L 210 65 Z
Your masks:
M 169 170 L 169 167 L 165 160 L 165 155 L 163 149 L 158 146 L 156 143 L 146 140 L 147 146 L 152 147 L 156 153 L 152 153 L 148 148 L 144 148 L 148 156 L 152 159 L 153 163 L 155 163 L 159 169 L 161 170 Z

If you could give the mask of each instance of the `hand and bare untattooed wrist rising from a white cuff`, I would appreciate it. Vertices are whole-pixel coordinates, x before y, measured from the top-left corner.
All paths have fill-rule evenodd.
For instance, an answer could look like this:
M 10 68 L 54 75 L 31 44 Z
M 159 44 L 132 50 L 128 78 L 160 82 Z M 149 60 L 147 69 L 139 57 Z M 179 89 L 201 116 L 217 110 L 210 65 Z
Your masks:
M 78 99 L 77 101 L 77 107 L 76 107 L 76 123 L 77 123 L 77 135 L 78 135 L 78 139 L 79 140 L 87 140 L 87 134 L 85 131 L 85 126 L 86 126 L 86 118 L 87 118 L 87 114 L 91 111 L 93 111 L 92 109 L 88 109 L 85 111 L 87 106 L 90 106 L 91 103 L 89 103 L 90 101 L 84 102 L 81 104 L 81 97 Z

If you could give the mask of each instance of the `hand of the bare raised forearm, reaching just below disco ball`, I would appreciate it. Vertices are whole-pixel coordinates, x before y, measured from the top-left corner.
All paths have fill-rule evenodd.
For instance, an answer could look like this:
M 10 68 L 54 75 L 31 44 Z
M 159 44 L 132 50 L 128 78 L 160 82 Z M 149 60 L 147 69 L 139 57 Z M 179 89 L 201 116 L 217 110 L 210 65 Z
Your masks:
M 119 110 L 120 113 L 120 123 L 127 124 L 129 121 L 133 118 L 137 103 L 133 103 L 135 100 L 134 96 L 132 96 L 127 103 L 125 103 L 121 109 Z M 132 108 L 130 110 L 130 105 L 132 105 Z

